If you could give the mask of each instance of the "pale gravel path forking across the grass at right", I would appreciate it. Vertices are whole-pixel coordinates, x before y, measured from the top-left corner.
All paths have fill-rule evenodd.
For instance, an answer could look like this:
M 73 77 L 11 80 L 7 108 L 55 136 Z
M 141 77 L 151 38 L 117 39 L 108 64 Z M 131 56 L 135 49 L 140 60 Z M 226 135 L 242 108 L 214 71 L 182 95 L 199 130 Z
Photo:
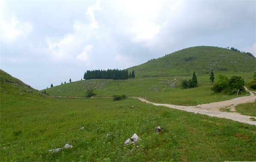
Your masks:
M 138 98 L 140 101 L 146 102 L 147 104 L 153 104 L 156 106 L 165 106 L 165 107 L 170 107 L 178 110 L 184 110 L 187 112 L 199 113 L 199 114 L 204 114 L 208 116 L 215 116 L 218 118 L 231 119 L 233 121 L 237 121 L 241 123 L 256 125 L 256 121 L 252 121 L 250 119 L 250 118 L 256 118 L 256 117 L 245 116 L 245 115 L 241 115 L 240 113 L 234 112 L 236 111 L 235 110 L 236 105 L 255 101 L 256 96 L 252 92 L 250 92 L 250 96 L 233 98 L 231 100 L 226 100 L 226 101 L 212 102 L 209 104 L 199 104 L 197 106 L 178 106 L 173 104 L 157 104 L 157 103 L 147 101 L 144 98 L 140 98 L 140 97 L 134 97 L 134 98 Z M 219 109 L 222 107 L 229 107 L 231 112 L 221 112 Z

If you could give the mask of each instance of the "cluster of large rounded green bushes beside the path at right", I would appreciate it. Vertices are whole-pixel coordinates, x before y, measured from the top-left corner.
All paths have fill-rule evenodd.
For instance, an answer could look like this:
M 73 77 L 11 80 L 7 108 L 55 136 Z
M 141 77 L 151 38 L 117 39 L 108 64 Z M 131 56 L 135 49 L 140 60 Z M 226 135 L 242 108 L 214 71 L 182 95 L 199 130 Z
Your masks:
M 230 79 L 225 75 L 218 76 L 218 82 L 211 87 L 215 93 L 227 93 L 230 95 L 245 92 L 244 79 L 241 76 L 232 76 Z

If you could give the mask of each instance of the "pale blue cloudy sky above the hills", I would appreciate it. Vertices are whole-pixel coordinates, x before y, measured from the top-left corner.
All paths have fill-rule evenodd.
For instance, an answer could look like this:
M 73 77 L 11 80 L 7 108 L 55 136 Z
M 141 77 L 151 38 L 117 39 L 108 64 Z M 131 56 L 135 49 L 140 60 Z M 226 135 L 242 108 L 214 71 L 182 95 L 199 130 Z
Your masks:
M 1 0 L 0 69 L 37 90 L 192 46 L 256 56 L 256 1 Z

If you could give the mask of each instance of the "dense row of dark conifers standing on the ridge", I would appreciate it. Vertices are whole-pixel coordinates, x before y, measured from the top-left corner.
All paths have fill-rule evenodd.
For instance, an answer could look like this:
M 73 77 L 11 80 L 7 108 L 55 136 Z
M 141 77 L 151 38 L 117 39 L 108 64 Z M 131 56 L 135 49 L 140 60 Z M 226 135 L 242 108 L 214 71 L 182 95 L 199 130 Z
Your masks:
M 123 69 L 108 69 L 108 70 L 87 70 L 84 72 L 84 79 L 128 79 L 135 78 L 134 70 L 128 73 L 128 70 Z

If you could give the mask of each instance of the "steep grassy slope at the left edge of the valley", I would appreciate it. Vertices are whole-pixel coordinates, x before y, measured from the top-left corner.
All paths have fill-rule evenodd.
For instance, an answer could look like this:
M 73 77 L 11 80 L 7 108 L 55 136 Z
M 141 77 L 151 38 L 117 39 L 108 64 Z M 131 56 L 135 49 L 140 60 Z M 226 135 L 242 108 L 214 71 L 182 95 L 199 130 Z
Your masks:
M 38 90 L 23 83 L 0 69 L 1 107 L 6 104 L 24 104 L 44 97 Z

